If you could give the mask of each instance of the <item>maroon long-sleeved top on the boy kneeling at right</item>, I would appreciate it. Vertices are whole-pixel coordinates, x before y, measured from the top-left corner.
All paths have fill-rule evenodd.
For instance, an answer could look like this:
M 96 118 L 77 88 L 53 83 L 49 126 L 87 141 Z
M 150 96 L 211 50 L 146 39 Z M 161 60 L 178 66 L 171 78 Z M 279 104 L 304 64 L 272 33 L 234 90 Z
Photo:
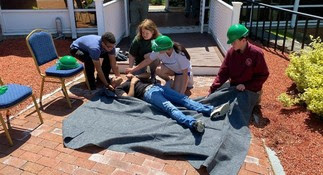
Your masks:
M 248 42 L 243 53 L 231 47 L 210 86 L 209 93 L 213 93 L 228 79 L 231 86 L 244 84 L 247 90 L 258 92 L 268 76 L 268 67 L 262 50 Z

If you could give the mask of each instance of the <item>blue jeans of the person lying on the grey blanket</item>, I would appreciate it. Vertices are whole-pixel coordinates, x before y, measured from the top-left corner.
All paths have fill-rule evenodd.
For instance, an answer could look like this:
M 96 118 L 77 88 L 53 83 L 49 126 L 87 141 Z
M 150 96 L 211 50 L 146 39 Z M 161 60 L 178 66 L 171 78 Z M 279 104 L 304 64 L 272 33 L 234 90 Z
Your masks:
M 203 105 L 191 100 L 186 95 L 161 85 L 154 85 L 148 89 L 144 94 L 144 100 L 166 112 L 172 119 L 175 119 L 179 124 L 188 128 L 193 128 L 193 123 L 196 122 L 196 119 L 193 116 L 183 114 L 173 103 L 190 110 L 201 112 L 207 116 L 210 116 L 213 110 L 213 106 Z

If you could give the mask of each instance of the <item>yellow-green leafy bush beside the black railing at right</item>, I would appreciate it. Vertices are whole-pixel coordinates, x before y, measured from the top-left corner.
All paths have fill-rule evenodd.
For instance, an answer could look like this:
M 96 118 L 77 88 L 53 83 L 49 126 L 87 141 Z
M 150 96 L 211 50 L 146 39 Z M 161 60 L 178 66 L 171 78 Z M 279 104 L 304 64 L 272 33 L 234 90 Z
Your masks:
M 294 81 L 300 94 L 279 96 L 284 106 L 305 102 L 307 109 L 323 117 L 323 43 L 313 39 L 310 47 L 290 55 L 287 76 Z

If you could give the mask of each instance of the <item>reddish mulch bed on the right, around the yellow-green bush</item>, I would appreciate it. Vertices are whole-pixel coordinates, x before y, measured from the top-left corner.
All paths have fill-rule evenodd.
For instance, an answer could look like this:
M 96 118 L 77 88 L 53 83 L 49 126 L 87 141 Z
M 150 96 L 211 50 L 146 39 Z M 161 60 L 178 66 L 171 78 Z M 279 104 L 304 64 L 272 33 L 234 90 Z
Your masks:
M 287 174 L 323 174 L 323 120 L 304 106 L 282 106 L 277 97 L 295 90 L 285 74 L 289 61 L 281 51 L 263 51 L 270 76 L 263 87 L 260 121 L 250 126 L 252 133 L 275 150 Z

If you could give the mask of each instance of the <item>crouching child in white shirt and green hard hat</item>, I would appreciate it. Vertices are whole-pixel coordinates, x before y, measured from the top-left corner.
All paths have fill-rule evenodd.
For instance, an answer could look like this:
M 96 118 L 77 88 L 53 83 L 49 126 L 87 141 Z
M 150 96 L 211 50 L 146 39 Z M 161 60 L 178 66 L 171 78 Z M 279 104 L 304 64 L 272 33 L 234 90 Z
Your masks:
M 183 46 L 174 43 L 168 36 L 161 35 L 152 40 L 152 50 L 139 65 L 126 69 L 126 73 L 140 70 L 159 59 L 162 64 L 157 68 L 156 74 L 168 83 L 172 81 L 171 76 L 174 76 L 174 82 L 170 83 L 172 89 L 184 94 L 187 88 L 193 87 L 190 55 Z

